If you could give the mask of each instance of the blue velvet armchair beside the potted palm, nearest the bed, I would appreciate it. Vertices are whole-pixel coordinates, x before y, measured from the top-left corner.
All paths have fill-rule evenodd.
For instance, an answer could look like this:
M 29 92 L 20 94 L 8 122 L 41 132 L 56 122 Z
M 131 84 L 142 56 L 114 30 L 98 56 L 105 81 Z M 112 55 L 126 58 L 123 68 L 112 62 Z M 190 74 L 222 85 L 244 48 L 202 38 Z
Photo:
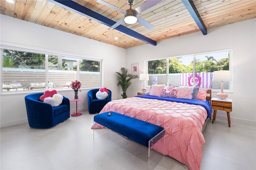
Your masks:
M 102 108 L 111 101 L 111 91 L 108 90 L 108 98 L 107 99 L 97 99 L 96 93 L 99 89 L 92 89 L 88 91 L 87 98 L 88 98 L 88 111 L 90 114 L 92 113 L 100 113 Z

